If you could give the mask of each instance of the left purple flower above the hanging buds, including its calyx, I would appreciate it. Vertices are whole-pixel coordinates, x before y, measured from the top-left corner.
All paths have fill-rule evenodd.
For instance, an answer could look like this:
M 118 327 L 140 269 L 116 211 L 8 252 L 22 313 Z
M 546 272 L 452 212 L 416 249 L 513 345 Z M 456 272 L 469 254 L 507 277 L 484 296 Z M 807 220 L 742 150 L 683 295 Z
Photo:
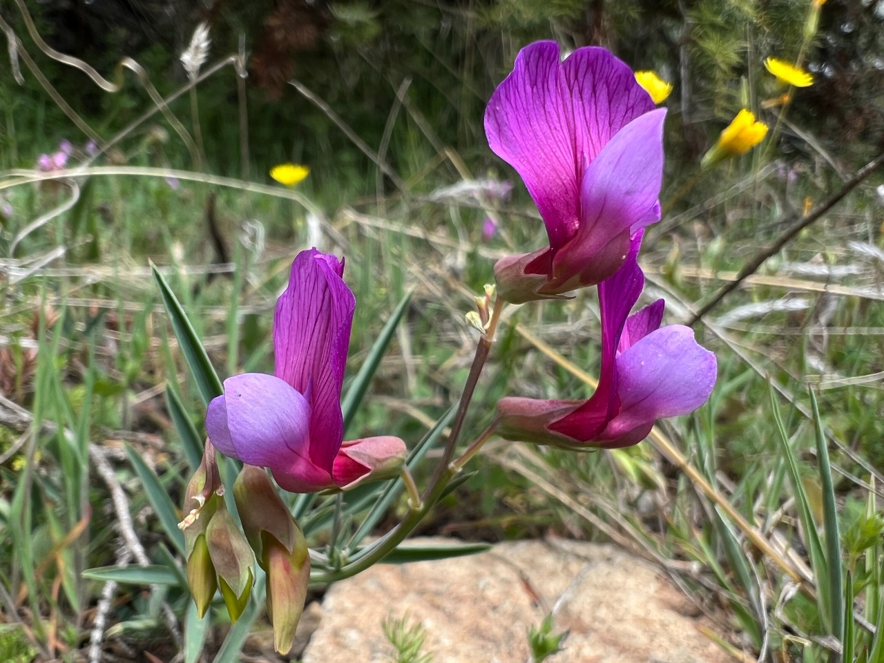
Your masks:
M 355 298 L 341 276 L 344 263 L 312 248 L 292 264 L 273 317 L 275 375 L 228 377 L 209 404 L 206 431 L 217 450 L 269 468 L 290 492 L 348 488 L 394 474 L 400 438 L 342 443 L 340 391 Z

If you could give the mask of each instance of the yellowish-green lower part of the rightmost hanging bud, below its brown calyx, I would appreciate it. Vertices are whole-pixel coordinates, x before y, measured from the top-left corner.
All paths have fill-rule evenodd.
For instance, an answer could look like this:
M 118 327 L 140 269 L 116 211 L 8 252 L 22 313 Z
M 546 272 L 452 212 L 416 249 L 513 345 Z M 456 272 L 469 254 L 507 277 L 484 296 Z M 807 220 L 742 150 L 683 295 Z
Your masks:
M 297 528 L 293 552 L 271 534 L 263 534 L 263 568 L 267 572 L 267 616 L 273 624 L 273 646 L 280 654 L 292 649 L 310 583 L 307 541 Z

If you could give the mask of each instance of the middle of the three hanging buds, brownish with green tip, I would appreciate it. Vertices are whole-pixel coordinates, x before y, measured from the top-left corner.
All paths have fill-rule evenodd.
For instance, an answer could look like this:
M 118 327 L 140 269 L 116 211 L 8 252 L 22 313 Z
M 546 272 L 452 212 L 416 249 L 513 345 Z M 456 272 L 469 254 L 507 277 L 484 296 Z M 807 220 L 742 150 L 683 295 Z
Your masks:
M 255 582 L 255 553 L 223 502 L 218 503 L 206 529 L 206 543 L 227 613 L 232 621 L 237 621 Z

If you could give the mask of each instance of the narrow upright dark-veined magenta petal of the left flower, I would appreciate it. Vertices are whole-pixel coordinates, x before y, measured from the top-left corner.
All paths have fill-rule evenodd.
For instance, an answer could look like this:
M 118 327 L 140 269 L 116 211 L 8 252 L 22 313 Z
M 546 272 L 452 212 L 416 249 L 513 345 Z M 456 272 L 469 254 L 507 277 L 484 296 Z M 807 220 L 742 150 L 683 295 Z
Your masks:
M 340 390 L 356 303 L 343 271 L 333 255 L 301 251 L 273 318 L 276 374 L 297 391 L 309 391 L 309 457 L 329 474 L 344 437 Z

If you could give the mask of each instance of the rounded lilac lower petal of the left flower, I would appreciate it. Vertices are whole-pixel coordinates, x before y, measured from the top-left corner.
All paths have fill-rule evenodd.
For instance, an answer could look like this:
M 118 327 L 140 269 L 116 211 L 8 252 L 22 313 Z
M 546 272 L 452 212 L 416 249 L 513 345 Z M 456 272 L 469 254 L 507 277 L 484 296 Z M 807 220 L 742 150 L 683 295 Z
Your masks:
M 228 377 L 224 395 L 209 404 L 206 432 L 218 451 L 249 465 L 286 467 L 306 456 L 310 407 L 278 377 L 244 373 Z

